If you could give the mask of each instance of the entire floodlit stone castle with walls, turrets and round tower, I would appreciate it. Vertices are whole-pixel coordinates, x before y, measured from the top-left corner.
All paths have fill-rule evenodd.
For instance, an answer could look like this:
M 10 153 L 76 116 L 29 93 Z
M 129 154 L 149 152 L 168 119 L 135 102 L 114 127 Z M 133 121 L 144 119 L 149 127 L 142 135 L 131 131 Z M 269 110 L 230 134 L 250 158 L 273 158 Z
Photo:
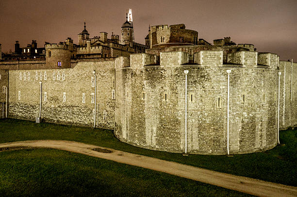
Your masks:
M 78 45 L 46 43 L 44 59 L 2 57 L 2 117 L 114 129 L 135 146 L 199 154 L 268 150 L 297 125 L 296 62 L 230 37 L 212 45 L 183 24 L 149 27 L 141 45 L 130 12 L 121 35 L 107 35 L 89 38 L 84 24 Z

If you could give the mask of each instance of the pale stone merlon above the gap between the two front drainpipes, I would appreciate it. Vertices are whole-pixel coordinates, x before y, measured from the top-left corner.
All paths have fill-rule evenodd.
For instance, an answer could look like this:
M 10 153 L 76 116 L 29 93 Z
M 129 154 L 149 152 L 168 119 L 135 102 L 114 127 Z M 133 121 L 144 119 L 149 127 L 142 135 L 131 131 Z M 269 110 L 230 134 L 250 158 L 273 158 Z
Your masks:
M 222 65 L 223 64 L 223 51 L 221 50 L 206 50 L 199 51 L 194 54 L 194 63 L 200 65 Z

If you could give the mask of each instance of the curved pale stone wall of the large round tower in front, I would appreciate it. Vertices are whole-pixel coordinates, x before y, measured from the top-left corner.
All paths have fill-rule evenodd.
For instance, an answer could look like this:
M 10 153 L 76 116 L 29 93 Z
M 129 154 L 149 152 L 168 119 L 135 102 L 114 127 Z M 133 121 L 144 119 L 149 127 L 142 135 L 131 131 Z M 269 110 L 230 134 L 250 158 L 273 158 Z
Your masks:
M 204 52 L 211 57 L 209 51 Z M 202 66 L 178 64 L 178 52 L 161 53 L 163 66 L 143 66 L 139 58 L 128 67 L 121 64 L 124 59 L 116 59 L 115 135 L 139 147 L 184 152 L 184 70 L 188 70 L 188 152 L 226 154 L 226 70 L 231 69 L 230 152 L 257 152 L 276 146 L 278 71 L 224 66 L 221 53 L 217 52 L 220 59 L 214 55 L 211 64 Z M 170 65 L 165 65 L 163 56 Z

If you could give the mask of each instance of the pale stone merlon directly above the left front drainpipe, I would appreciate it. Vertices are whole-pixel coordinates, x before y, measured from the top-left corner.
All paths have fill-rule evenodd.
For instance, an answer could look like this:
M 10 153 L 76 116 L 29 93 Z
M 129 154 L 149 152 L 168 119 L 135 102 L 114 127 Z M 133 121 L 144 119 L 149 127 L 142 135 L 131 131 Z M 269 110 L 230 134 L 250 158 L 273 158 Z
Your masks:
M 189 62 L 189 54 L 182 51 L 160 52 L 160 66 L 176 66 Z

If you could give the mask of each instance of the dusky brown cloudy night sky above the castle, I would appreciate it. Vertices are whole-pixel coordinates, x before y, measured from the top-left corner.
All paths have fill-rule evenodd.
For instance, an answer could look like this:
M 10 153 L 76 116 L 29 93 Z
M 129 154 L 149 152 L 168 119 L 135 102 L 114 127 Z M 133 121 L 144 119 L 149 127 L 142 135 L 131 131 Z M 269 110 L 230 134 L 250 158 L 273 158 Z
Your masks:
M 144 44 L 148 24 L 183 23 L 210 43 L 231 36 L 297 61 L 297 0 L 0 0 L 2 51 L 14 50 L 16 40 L 21 47 L 33 39 L 38 47 L 67 37 L 77 43 L 84 19 L 90 37 L 119 35 L 129 8 L 138 43 Z

